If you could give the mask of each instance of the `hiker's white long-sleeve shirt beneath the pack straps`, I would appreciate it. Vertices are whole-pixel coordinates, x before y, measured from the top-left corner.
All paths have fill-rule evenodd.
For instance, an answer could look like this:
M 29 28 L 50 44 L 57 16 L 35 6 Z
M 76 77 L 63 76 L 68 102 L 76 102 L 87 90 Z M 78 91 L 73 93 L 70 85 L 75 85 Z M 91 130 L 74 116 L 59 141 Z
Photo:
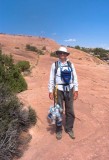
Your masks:
M 67 60 L 68 61 L 68 60 Z M 67 61 L 62 63 L 60 60 L 58 60 L 58 69 L 57 69 L 57 73 L 55 75 L 55 63 L 52 64 L 51 66 L 51 71 L 50 71 L 50 79 L 49 79 L 49 84 L 48 84 L 48 89 L 49 92 L 53 92 L 54 90 L 54 86 L 57 85 L 58 90 L 63 91 L 63 80 L 61 78 L 61 68 L 66 69 L 66 67 L 68 68 L 68 64 Z M 70 79 L 70 83 L 67 90 L 70 89 L 74 89 L 74 91 L 78 91 L 78 79 L 77 79 L 77 74 L 76 74 L 76 70 L 75 67 L 73 65 L 73 63 L 71 64 L 72 66 L 72 75 L 71 75 L 71 79 Z M 56 76 L 56 84 L 54 82 L 54 76 Z M 59 85 L 58 85 L 59 84 Z M 62 85 L 61 85 L 62 84 Z

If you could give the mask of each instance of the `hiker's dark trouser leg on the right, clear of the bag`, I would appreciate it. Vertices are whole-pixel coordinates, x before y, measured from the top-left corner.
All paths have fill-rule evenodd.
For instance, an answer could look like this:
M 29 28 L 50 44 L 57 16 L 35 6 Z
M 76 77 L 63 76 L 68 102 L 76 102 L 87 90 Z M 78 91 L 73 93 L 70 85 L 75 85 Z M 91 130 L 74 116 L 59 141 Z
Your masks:
M 65 131 L 66 132 L 72 131 L 74 126 L 74 120 L 75 120 L 75 114 L 74 114 L 74 108 L 73 108 L 73 89 L 70 90 L 69 96 L 70 98 L 68 98 L 68 96 L 65 96 L 65 115 L 66 115 Z

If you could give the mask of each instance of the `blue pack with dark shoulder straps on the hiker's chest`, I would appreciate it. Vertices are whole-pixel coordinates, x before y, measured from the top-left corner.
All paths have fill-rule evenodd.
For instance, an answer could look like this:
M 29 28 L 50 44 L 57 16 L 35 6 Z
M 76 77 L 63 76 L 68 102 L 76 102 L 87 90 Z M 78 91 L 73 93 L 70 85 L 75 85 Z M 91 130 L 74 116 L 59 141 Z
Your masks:
M 73 74 L 72 74 L 73 69 L 72 69 L 72 65 L 70 61 L 67 61 L 67 66 L 68 66 L 68 70 L 67 69 L 62 70 L 62 67 L 60 68 L 61 69 L 61 79 L 64 81 L 63 85 L 69 85 L 71 76 L 73 77 Z M 55 84 L 56 84 L 56 73 L 57 73 L 58 67 L 59 67 L 58 61 L 56 61 L 55 62 L 55 76 L 54 76 Z

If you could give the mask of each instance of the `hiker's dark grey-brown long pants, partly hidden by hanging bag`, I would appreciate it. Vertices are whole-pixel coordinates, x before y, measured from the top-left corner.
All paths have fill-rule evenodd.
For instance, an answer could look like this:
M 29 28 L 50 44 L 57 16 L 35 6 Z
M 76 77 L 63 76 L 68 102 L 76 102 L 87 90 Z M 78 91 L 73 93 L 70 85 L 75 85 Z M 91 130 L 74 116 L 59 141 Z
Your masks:
M 57 90 L 57 103 L 63 108 L 63 101 L 65 101 L 65 131 L 71 131 L 74 125 L 75 114 L 73 109 L 73 89 L 66 94 L 63 91 Z M 62 131 L 62 125 L 57 126 L 56 132 Z

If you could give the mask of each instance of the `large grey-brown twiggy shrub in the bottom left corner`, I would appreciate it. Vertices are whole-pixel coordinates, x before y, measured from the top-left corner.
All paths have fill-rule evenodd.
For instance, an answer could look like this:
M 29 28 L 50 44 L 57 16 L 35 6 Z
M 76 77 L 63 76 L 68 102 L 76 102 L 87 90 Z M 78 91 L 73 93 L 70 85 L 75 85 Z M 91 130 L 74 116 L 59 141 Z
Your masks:
M 28 129 L 36 122 L 35 111 L 31 107 L 24 109 L 10 88 L 0 84 L 0 160 L 13 160 L 22 155 L 24 145 L 30 140 Z M 27 136 L 22 138 L 22 134 Z

